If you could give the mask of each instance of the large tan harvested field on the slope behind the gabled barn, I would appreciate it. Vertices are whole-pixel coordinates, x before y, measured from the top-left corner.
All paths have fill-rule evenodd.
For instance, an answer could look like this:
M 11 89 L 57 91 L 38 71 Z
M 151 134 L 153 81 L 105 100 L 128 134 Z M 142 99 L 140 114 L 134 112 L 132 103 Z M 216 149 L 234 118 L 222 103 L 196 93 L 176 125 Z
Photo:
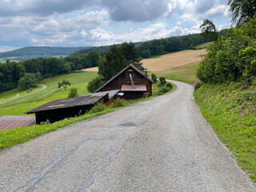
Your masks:
M 177 66 L 200 62 L 203 54 L 206 54 L 206 50 L 184 50 L 174 54 L 165 54 L 160 58 L 146 58 L 142 60 L 142 63 L 150 71 L 170 70 Z

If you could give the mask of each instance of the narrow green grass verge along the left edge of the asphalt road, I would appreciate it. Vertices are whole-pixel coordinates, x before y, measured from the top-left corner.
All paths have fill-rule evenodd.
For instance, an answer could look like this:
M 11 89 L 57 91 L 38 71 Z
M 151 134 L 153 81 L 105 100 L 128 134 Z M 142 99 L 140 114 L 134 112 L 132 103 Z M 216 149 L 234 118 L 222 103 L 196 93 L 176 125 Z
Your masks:
M 173 89 L 167 92 L 166 94 L 174 91 L 177 86 L 172 84 Z M 158 94 L 158 85 L 157 83 L 154 83 L 153 85 L 153 91 L 154 91 L 154 96 L 150 98 L 155 98 L 157 97 Z M 129 102 L 124 102 L 124 106 L 130 106 L 134 102 L 143 102 L 146 100 L 149 100 L 150 98 L 145 98 L 145 99 L 138 99 L 135 101 L 129 101 Z M 19 127 L 16 129 L 11 129 L 11 130 L 0 130 L 0 152 L 2 150 L 8 149 L 11 146 L 16 146 L 18 144 L 22 144 L 24 142 L 29 141 L 30 139 L 33 138 L 38 138 L 42 134 L 47 134 L 51 131 L 58 130 L 58 128 L 64 127 L 64 126 L 69 126 L 71 123 L 74 122 L 80 122 L 82 120 L 86 120 L 88 118 L 93 118 L 95 116 L 98 116 L 100 114 L 106 114 L 110 111 L 119 109 L 121 107 L 115 106 L 116 108 L 111 108 L 111 107 L 105 107 L 104 110 L 99 111 L 97 113 L 91 114 L 83 114 L 79 117 L 76 118 L 66 118 L 62 121 L 59 122 L 54 122 L 52 124 L 45 124 L 45 125 L 37 125 L 37 126 L 26 126 L 26 127 Z

